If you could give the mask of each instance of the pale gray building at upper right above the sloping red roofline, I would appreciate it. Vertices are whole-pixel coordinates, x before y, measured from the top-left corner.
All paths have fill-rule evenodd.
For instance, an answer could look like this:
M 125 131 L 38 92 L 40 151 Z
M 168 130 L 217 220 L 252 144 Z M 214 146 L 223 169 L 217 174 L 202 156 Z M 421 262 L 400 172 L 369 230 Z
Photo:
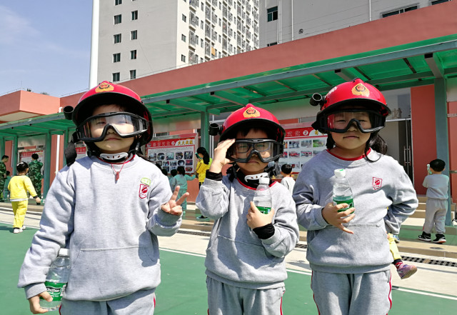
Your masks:
M 451 0 L 262 1 L 260 46 L 266 47 L 344 29 Z M 398 31 L 401 32 L 401 30 Z M 347 44 L 350 45 L 351 43 Z M 335 47 L 329 46 L 329 49 L 335 49 Z

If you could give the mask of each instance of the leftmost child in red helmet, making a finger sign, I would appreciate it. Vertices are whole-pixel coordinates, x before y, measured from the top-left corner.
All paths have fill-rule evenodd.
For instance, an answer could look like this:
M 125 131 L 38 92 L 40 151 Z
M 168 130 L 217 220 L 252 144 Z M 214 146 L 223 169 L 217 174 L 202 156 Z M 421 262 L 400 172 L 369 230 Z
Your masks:
M 67 112 L 69 109 L 66 109 Z M 160 283 L 157 236 L 181 225 L 181 206 L 160 169 L 139 154 L 151 140 L 151 115 L 131 89 L 104 81 L 79 100 L 71 117 L 73 141 L 89 156 L 59 171 L 46 196 L 19 275 L 30 309 L 44 313 L 44 281 L 59 249 L 70 251 L 71 273 L 61 314 L 154 314 Z

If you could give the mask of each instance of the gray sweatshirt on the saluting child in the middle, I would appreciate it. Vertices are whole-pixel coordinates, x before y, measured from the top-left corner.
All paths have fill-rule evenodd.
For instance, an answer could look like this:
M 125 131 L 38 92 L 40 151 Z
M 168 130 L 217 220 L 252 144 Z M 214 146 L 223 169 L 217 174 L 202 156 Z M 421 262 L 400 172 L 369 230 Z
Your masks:
M 274 234 L 259 239 L 246 215 L 255 189 L 237 179 L 206 178 L 196 206 L 201 214 L 216 220 L 206 249 L 206 274 L 231 286 L 271 289 L 283 286 L 287 278 L 284 257 L 298 241 L 295 204 L 286 187 L 271 184 Z

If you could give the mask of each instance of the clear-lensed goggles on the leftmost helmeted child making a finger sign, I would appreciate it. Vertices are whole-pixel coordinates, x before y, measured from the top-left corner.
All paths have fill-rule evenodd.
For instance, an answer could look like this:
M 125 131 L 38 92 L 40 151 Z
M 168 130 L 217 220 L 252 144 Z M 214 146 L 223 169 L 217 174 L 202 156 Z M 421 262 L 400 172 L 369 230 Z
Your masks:
M 97 142 L 104 139 L 111 127 L 121 138 L 143 134 L 148 130 L 149 121 L 131 113 L 115 112 L 91 116 L 76 129 L 81 141 Z

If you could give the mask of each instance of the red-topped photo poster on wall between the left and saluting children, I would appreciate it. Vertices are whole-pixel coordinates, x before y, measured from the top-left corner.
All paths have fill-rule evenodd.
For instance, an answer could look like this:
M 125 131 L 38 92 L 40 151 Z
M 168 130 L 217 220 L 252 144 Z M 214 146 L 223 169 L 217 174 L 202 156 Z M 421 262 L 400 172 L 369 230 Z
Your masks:
M 168 173 L 178 166 L 184 166 L 186 174 L 193 174 L 196 166 L 196 136 L 197 134 L 188 134 L 151 141 L 146 144 L 148 159 Z

